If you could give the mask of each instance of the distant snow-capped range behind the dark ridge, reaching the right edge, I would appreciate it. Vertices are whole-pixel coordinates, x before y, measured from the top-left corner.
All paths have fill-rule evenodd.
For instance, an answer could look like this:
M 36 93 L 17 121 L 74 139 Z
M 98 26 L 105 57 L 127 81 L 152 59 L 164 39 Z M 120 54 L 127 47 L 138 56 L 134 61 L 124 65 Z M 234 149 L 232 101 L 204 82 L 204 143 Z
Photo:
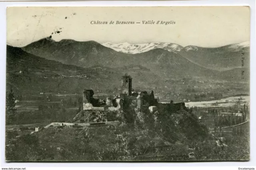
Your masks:
M 201 65 L 202 67 L 215 70 L 228 70 L 240 68 L 241 58 L 245 57 L 245 67 L 250 67 L 250 42 L 242 42 L 222 47 L 208 48 L 188 45 L 182 47 L 175 43 L 102 43 L 102 45 L 122 53 L 144 53 L 152 49 L 165 49 L 170 52 L 178 53 L 186 57 L 189 61 Z

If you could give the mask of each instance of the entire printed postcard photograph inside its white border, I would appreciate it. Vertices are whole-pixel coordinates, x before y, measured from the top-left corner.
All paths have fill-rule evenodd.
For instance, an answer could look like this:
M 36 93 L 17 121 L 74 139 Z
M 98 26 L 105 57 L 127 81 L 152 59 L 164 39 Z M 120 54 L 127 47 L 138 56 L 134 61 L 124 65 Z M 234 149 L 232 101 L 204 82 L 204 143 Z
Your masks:
M 7 161 L 250 159 L 250 8 L 10 7 Z

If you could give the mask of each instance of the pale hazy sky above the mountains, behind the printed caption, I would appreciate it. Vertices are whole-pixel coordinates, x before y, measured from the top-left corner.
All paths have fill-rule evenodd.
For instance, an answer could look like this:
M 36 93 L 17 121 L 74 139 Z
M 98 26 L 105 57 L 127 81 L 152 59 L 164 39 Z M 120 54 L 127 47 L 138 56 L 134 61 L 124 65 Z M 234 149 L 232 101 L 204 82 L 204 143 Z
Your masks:
M 174 21 L 145 25 L 142 21 Z M 90 24 L 107 21 L 108 24 Z M 115 24 L 109 24 L 114 21 Z M 121 25 L 116 21 L 135 22 Z M 140 22 L 140 24 L 136 24 Z M 59 34 L 55 32 L 62 31 Z M 54 34 L 52 34 L 54 33 Z M 248 7 L 11 7 L 7 44 L 22 47 L 49 37 L 99 43 L 171 42 L 217 47 L 250 40 Z

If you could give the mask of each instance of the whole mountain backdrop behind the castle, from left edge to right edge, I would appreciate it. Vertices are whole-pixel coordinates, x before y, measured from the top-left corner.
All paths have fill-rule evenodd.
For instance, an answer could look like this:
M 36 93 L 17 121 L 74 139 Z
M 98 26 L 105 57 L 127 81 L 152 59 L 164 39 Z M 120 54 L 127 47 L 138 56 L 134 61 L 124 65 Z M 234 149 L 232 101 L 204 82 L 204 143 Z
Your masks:
M 116 51 L 95 41 L 56 42 L 51 38 L 21 48 L 7 45 L 7 83 L 17 89 L 25 88 L 29 93 L 33 88 L 35 91 L 38 88 L 79 91 L 84 85 L 113 89 L 119 87 L 124 73 L 134 77 L 135 87 L 148 88 L 169 86 L 184 78 L 249 80 L 248 43 L 218 48 L 182 47 L 172 43 L 150 45 L 148 48 L 144 45 L 144 50 L 136 53 Z M 245 58 L 244 68 L 240 67 L 242 57 Z M 242 71 L 246 79 L 241 79 Z

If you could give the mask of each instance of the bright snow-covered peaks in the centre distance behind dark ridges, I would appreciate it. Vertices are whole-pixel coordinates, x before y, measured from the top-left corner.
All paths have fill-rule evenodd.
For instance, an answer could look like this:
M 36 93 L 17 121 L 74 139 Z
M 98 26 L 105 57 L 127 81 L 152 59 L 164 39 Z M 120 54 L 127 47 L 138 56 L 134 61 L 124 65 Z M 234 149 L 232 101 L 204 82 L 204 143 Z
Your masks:
M 141 43 L 141 44 L 130 44 L 130 43 L 102 43 L 105 47 L 109 47 L 114 49 L 115 51 L 122 52 L 122 53 L 143 53 L 152 49 L 162 48 L 171 52 L 178 52 L 183 47 L 181 45 L 175 43 L 162 43 L 162 42 L 152 42 L 152 43 Z

